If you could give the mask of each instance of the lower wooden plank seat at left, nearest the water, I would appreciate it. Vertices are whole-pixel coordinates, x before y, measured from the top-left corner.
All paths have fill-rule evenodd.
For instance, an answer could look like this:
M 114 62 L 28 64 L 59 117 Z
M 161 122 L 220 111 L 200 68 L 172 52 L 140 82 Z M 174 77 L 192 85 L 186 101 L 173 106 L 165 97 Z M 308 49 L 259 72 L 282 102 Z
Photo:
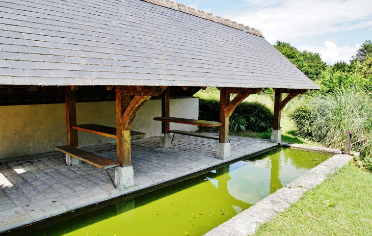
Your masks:
M 56 147 L 56 150 L 73 156 L 74 158 L 82 160 L 83 162 L 89 163 L 102 170 L 119 166 L 119 163 L 116 161 L 103 158 L 102 156 L 96 155 L 88 151 L 84 151 L 71 145 L 59 146 Z

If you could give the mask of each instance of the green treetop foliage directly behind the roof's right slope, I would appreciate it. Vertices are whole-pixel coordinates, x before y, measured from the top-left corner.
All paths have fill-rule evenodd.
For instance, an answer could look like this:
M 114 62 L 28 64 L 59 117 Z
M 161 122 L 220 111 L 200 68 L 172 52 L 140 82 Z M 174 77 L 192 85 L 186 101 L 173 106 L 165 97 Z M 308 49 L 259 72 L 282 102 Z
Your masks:
M 307 77 L 315 81 L 326 68 L 321 56 L 310 51 L 299 51 L 289 43 L 277 41 L 274 45 L 289 61 L 299 68 Z

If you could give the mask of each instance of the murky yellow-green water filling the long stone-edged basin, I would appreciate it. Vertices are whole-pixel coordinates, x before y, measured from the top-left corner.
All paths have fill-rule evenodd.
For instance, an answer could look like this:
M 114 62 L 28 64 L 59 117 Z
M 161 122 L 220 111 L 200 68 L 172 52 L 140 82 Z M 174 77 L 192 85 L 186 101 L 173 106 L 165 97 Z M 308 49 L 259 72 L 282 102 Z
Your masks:
M 276 148 L 30 235 L 203 235 L 328 158 Z

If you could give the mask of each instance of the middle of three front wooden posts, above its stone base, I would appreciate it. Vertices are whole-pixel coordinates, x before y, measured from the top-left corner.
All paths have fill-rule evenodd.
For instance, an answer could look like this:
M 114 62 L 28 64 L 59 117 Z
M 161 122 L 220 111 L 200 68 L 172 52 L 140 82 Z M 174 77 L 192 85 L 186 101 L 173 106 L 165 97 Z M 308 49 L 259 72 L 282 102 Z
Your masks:
M 220 122 L 221 126 L 221 143 L 229 142 L 229 116 L 227 111 L 227 106 L 230 103 L 230 93 L 226 92 L 224 89 L 220 92 Z

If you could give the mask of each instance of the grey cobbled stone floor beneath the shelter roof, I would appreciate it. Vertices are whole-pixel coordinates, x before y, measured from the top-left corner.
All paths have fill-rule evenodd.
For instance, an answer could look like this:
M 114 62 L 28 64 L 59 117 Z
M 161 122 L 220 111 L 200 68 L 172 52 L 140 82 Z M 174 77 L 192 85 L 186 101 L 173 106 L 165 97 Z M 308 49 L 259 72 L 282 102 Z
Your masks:
M 277 146 L 262 139 L 235 136 L 230 139 L 231 156 L 225 161 L 215 158 L 216 140 L 176 135 L 169 148 L 159 147 L 159 137 L 132 140 L 135 186 L 121 191 L 113 187 L 105 171 L 86 163 L 66 166 L 58 152 L 2 161 L 0 232 Z M 116 160 L 115 143 L 83 149 Z M 114 177 L 115 168 L 109 169 L 109 172 Z M 236 220 L 240 222 L 241 219 Z

